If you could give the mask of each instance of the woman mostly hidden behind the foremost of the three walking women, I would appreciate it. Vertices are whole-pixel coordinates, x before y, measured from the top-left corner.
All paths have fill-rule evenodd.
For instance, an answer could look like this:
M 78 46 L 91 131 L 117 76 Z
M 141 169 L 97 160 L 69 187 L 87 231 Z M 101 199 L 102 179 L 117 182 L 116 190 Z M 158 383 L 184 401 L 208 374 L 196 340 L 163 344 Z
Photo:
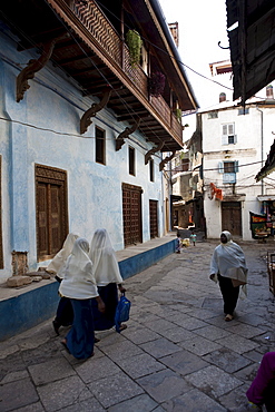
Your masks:
M 51 263 L 47 267 L 47 272 L 53 273 L 56 279 L 60 283 L 63 278 L 65 263 L 70 255 L 73 244 L 79 236 L 75 233 L 69 233 L 65 239 L 62 248 L 56 254 Z M 69 326 L 72 324 L 73 312 L 70 300 L 61 297 L 58 303 L 57 315 L 52 321 L 53 328 L 59 335 L 60 326 Z

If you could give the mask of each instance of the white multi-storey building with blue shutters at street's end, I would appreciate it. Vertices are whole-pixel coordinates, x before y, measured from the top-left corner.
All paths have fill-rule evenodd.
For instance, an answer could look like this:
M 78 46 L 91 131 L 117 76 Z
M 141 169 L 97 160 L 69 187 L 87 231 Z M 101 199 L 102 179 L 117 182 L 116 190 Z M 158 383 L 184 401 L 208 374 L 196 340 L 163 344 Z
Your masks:
M 269 91 L 266 98 L 247 100 L 245 108 L 226 101 L 223 94 L 217 107 L 202 112 L 208 238 L 218 238 L 225 229 L 235 238 L 257 238 L 253 216 L 268 222 L 258 230 L 273 234 L 274 174 L 262 182 L 255 177 L 274 141 L 274 115 L 275 100 Z

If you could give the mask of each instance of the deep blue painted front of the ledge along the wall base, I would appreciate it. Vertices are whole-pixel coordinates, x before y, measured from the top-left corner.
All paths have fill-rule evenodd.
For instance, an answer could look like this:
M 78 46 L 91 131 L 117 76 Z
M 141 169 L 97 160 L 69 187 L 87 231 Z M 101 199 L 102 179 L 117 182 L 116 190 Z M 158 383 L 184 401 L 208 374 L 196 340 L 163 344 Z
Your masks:
M 175 239 L 119 262 L 122 278 L 150 267 L 175 252 Z M 59 283 L 50 283 L 0 302 L 0 342 L 55 317 Z

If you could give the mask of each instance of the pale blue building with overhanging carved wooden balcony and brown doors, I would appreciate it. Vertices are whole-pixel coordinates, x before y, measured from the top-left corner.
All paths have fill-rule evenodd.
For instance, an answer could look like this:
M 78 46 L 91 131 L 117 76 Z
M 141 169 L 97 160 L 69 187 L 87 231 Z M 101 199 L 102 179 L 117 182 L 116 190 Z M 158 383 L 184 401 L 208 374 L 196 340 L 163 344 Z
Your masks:
M 46 266 L 69 232 L 90 241 L 105 227 L 116 251 L 163 236 L 165 158 L 183 146 L 176 109 L 197 104 L 176 59 L 151 46 L 177 55 L 158 3 L 1 11 L 0 282 Z

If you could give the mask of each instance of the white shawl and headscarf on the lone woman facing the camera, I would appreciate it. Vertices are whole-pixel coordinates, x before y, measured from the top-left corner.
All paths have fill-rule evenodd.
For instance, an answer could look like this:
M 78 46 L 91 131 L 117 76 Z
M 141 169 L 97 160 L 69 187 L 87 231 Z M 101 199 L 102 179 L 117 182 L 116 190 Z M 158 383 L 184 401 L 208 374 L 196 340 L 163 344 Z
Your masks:
M 228 230 L 222 232 L 225 235 L 227 243 L 220 243 L 212 256 L 210 274 L 215 274 L 214 281 L 217 281 L 219 273 L 224 277 L 238 281 L 239 284 L 247 283 L 247 267 L 245 255 L 242 248 L 232 241 L 232 234 Z

